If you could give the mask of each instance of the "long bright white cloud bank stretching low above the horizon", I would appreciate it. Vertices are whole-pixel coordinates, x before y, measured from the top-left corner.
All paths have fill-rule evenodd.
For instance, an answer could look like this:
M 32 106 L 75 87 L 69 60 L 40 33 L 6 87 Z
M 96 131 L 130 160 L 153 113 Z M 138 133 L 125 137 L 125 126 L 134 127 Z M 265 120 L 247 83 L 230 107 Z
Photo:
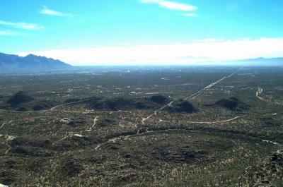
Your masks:
M 24 56 L 30 53 L 60 59 L 74 65 L 190 64 L 200 59 L 225 61 L 283 56 L 283 38 L 210 38 L 185 44 L 62 49 L 17 54 Z

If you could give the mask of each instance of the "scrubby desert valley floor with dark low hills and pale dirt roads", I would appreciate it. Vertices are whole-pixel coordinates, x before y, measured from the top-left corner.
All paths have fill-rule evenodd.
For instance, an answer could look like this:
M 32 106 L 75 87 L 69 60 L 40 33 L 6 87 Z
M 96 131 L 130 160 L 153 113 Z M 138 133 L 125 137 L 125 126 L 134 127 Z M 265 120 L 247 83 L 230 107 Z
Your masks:
M 283 68 L 0 76 L 0 183 L 282 186 Z

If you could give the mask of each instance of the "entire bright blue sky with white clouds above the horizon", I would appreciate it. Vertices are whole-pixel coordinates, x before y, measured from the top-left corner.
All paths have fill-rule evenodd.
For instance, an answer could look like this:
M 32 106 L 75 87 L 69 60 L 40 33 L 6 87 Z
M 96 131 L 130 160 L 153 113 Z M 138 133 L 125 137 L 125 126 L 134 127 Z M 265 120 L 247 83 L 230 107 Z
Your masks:
M 282 0 L 1 0 L 0 52 L 75 66 L 283 56 Z

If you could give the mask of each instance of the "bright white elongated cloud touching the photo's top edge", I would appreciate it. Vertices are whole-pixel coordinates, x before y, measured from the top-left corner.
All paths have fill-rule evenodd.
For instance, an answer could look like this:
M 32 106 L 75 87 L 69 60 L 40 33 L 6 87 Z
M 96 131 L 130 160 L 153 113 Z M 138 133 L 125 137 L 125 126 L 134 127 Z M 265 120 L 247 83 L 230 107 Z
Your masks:
M 168 8 L 171 10 L 177 11 L 195 11 L 197 10 L 197 6 L 193 6 L 190 4 L 181 4 L 175 1 L 164 1 L 164 0 L 141 0 L 141 3 L 144 4 L 158 4 L 163 8 Z

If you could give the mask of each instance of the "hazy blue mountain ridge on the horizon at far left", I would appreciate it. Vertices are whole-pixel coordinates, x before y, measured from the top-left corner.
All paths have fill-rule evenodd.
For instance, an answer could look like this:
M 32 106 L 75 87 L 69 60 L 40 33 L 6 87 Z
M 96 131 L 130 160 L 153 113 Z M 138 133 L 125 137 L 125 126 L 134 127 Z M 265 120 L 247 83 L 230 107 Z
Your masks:
M 40 71 L 62 71 L 72 66 L 59 60 L 49 59 L 45 56 L 17 56 L 0 53 L 0 73 L 22 73 Z

